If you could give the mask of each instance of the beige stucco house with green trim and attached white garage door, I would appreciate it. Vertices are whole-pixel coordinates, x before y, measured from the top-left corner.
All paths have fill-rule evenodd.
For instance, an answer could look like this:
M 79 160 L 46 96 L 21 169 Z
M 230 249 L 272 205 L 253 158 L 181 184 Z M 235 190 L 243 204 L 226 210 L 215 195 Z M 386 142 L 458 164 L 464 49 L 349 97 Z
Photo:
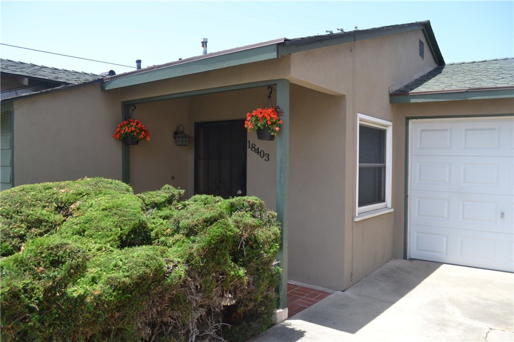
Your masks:
M 411 257 L 512 272 L 513 65 L 445 64 L 427 21 L 277 39 L 13 97 L 3 106 L 14 185 L 102 176 L 136 192 L 259 196 L 283 224 L 283 284 L 343 290 Z M 273 142 L 242 128 L 268 86 L 284 111 Z M 150 142 L 112 137 L 131 115 Z M 188 146 L 173 138 L 182 127 Z

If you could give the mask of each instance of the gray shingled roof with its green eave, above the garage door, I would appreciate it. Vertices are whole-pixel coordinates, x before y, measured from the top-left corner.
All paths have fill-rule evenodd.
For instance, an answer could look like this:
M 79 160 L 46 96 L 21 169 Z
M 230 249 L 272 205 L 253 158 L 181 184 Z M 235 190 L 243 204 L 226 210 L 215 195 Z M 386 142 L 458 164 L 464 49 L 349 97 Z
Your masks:
M 445 95 L 444 95 L 445 94 Z M 391 103 L 512 97 L 514 58 L 440 65 L 391 93 Z

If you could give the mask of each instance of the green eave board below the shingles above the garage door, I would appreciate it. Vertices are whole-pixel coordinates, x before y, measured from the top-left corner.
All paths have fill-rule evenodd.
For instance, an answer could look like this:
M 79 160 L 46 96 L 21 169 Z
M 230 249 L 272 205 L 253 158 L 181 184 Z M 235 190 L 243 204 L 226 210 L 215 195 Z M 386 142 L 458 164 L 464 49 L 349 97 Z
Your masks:
M 453 89 L 436 90 L 424 92 L 404 92 L 393 93 L 389 97 L 389 103 L 421 103 L 471 99 L 493 99 L 493 98 L 514 98 L 514 87 L 495 87 L 495 88 L 472 88 L 472 89 Z

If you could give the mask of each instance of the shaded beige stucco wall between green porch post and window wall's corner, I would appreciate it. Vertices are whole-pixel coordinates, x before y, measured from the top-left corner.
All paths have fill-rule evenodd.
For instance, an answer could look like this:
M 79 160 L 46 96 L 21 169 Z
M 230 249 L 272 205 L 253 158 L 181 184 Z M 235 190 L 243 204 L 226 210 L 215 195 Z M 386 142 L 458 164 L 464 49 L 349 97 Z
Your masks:
M 346 97 L 297 85 L 290 94 L 288 276 L 341 289 Z

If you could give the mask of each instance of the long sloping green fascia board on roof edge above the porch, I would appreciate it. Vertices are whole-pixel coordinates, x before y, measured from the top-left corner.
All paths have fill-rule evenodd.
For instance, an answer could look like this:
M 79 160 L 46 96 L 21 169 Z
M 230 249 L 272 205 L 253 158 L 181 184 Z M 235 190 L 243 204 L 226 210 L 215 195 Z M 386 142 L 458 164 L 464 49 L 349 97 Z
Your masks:
M 102 83 L 103 90 L 122 88 L 142 83 L 160 81 L 179 76 L 212 71 L 242 64 L 277 58 L 277 45 L 266 45 L 232 53 L 206 57 L 197 61 L 174 64 L 160 69 L 139 72 L 132 75 L 113 77 Z

